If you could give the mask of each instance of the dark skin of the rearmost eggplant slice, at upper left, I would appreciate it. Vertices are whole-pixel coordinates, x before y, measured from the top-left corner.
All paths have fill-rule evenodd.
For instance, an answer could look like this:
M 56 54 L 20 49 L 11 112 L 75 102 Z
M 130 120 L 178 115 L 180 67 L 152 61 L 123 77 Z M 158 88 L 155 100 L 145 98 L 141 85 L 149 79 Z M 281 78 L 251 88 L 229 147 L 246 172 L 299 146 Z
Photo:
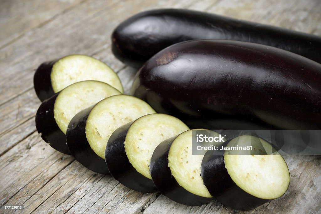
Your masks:
M 50 74 L 52 66 L 56 62 L 57 60 L 53 60 L 40 64 L 33 76 L 33 85 L 41 102 L 55 94 L 51 85 Z

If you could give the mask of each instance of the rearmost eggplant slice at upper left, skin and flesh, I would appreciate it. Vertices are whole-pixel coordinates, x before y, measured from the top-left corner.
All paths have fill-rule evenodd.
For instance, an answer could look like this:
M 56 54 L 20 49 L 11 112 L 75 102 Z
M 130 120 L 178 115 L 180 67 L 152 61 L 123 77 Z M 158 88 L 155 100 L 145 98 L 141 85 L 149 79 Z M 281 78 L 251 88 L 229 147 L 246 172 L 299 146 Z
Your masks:
M 119 77 L 107 64 L 79 54 L 40 64 L 34 74 L 33 84 L 38 98 L 44 101 L 68 85 L 85 80 L 106 82 L 124 92 Z

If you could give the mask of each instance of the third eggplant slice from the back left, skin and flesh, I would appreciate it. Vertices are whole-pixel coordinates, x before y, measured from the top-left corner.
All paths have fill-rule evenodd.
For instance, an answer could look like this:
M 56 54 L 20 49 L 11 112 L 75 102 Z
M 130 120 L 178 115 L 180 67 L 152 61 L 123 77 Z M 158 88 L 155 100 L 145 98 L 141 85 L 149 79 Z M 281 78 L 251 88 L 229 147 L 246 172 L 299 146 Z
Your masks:
M 100 174 L 110 174 L 105 149 L 112 133 L 124 124 L 154 113 L 152 107 L 133 96 L 105 98 L 71 119 L 66 132 L 67 146 L 83 166 Z M 117 162 L 118 157 L 114 161 Z

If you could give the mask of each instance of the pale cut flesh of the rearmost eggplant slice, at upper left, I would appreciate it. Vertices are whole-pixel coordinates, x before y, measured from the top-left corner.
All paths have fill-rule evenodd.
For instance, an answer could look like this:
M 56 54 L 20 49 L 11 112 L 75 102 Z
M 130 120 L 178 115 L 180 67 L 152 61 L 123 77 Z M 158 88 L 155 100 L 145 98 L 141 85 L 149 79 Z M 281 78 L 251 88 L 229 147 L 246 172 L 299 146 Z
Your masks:
M 52 67 L 50 78 L 55 93 L 85 80 L 106 82 L 124 92 L 117 74 L 107 64 L 91 56 L 75 54 L 59 59 Z

